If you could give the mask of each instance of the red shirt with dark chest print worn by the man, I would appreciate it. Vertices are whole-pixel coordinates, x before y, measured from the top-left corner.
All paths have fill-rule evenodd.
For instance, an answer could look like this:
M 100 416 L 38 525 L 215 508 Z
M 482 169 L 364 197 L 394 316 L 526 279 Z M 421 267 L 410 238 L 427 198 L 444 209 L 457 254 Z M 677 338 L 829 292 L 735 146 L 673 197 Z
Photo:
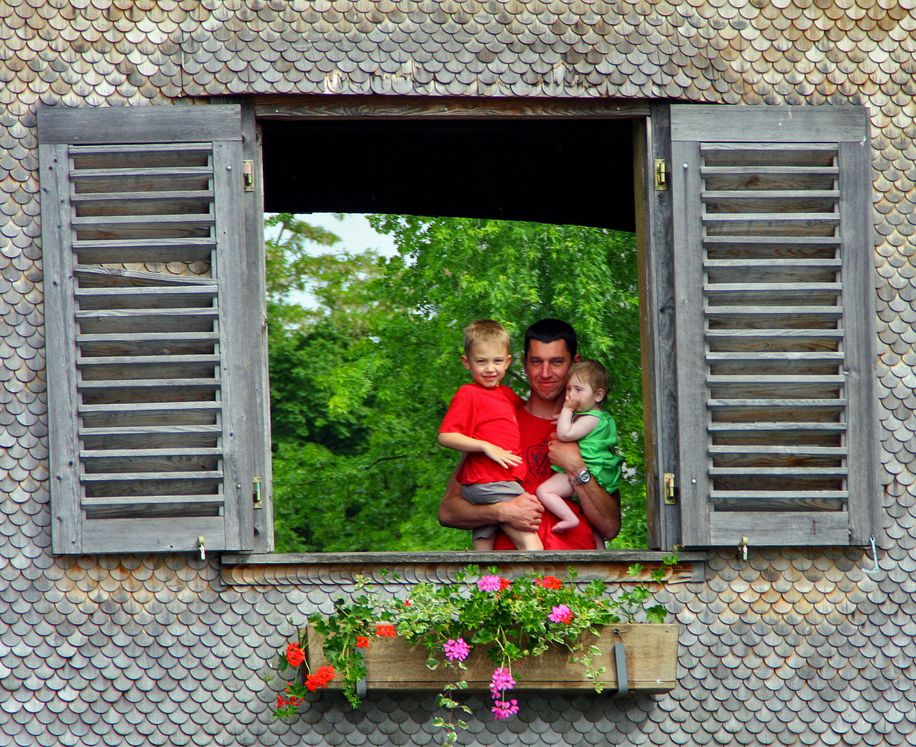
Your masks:
M 547 445 L 551 440 L 551 433 L 556 430 L 556 426 L 551 420 L 545 420 L 542 417 L 534 417 L 522 405 L 518 408 L 518 433 L 521 438 L 521 458 L 522 464 L 526 468 L 526 474 L 521 480 L 522 487 L 528 493 L 534 493 L 541 482 L 547 480 L 556 472 L 551 470 L 551 460 L 547 456 Z M 575 501 L 566 501 L 573 512 L 579 517 L 579 525 L 574 529 L 569 529 L 562 535 L 553 534 L 553 525 L 558 521 L 557 517 L 550 511 L 544 510 L 540 514 L 540 526 L 538 527 L 538 536 L 544 543 L 545 550 L 594 550 L 594 534 L 592 526 L 583 516 L 579 503 Z M 515 545 L 502 531 L 496 533 L 496 550 L 514 550 Z

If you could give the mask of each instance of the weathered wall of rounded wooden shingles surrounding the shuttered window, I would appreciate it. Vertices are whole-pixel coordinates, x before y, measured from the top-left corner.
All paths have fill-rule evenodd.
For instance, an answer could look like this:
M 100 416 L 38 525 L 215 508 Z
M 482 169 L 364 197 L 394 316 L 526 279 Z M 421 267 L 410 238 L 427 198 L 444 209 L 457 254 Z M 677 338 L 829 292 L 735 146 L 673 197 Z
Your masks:
M 7 0 L 0 6 L 0 742 L 429 744 L 432 698 L 322 697 L 275 723 L 284 620 L 347 572 L 222 578 L 187 557 L 49 555 L 34 107 L 239 93 L 862 103 L 875 147 L 887 537 L 713 554 L 661 592 L 682 625 L 657 698 L 529 695 L 480 744 L 916 742 L 916 83 L 912 0 L 692 3 Z M 175 268 L 175 272 L 181 272 Z M 435 576 L 414 568 L 413 578 Z M 397 592 L 397 589 L 390 589 Z

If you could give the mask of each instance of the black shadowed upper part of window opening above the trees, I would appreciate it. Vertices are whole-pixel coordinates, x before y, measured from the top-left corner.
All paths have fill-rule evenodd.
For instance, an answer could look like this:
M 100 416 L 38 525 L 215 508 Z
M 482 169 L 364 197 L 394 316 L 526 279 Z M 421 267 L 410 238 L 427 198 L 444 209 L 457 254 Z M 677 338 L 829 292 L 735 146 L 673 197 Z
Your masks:
M 387 212 L 635 231 L 633 124 L 265 122 L 267 212 Z

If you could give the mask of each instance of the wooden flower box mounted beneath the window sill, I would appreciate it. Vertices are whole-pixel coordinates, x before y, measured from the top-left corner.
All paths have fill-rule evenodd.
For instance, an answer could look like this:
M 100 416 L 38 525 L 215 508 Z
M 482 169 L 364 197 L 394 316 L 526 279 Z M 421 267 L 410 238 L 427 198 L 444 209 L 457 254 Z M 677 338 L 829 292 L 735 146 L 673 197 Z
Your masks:
M 323 638 L 309 626 L 308 656 L 311 671 L 327 664 L 322 651 Z M 599 635 L 593 636 L 586 645 L 601 649 L 601 655 L 594 656 L 594 666 L 604 666 L 602 675 L 605 688 L 609 691 L 635 693 L 663 693 L 674 689 L 678 663 L 678 626 L 676 623 L 638 623 L 606 626 Z M 622 649 L 616 644 L 623 644 Z M 442 687 L 446 675 L 444 666 L 430 669 L 426 666 L 429 657 L 422 645 L 410 646 L 397 638 L 371 639 L 365 653 L 367 677 L 366 690 L 431 690 Z M 571 664 L 570 655 L 563 648 L 551 648 L 534 659 L 517 662 L 513 676 L 518 681 L 518 690 L 589 690 L 594 683 L 587 679 L 581 664 Z M 626 665 L 623 666 L 623 662 Z M 489 687 L 494 664 L 483 653 L 475 650 L 465 664 L 467 671 L 456 670 L 455 679 L 465 679 L 468 690 L 482 692 Z M 623 668 L 622 668 L 623 667 Z M 619 687 L 618 672 L 626 678 L 624 687 Z M 624 678 L 621 677 L 621 678 Z M 335 679 L 328 686 L 341 689 L 342 683 Z

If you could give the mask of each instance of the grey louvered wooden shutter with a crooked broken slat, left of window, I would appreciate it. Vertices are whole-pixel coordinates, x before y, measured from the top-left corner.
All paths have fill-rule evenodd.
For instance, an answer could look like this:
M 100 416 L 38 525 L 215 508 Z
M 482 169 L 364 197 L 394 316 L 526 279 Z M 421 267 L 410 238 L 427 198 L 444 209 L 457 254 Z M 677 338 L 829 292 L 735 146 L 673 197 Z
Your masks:
M 238 105 L 38 112 L 56 553 L 254 547 L 259 257 Z

